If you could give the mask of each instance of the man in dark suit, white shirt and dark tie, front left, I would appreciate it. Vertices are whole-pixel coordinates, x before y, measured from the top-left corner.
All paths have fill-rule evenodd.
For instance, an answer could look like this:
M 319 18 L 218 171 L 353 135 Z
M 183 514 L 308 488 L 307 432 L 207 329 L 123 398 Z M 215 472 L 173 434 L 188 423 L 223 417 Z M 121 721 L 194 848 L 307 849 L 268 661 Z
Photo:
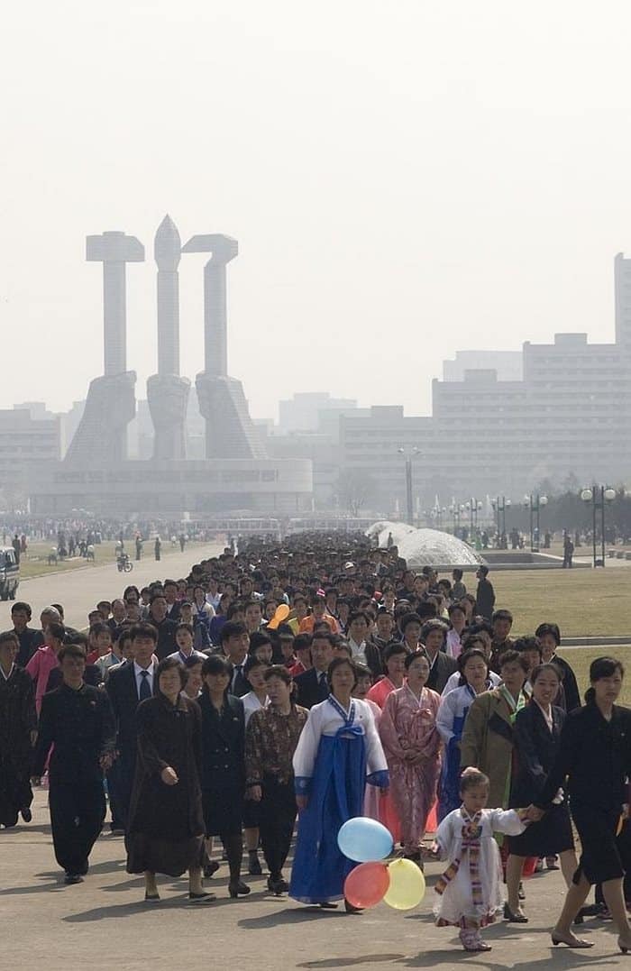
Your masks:
M 120 833 L 127 824 L 129 800 L 136 771 L 136 709 L 141 701 L 153 694 L 155 665 L 153 653 L 157 643 L 156 630 L 149 623 L 131 628 L 133 661 L 116 665 L 110 671 L 106 690 L 116 718 L 116 749 L 118 758 L 108 774 L 111 828 Z

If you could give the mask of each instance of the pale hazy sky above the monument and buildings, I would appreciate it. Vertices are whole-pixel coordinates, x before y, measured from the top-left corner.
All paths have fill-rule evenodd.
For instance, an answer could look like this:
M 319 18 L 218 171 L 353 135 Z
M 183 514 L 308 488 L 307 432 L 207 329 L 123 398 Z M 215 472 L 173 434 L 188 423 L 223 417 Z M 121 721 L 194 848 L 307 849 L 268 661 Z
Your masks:
M 156 370 L 153 234 L 239 240 L 229 371 L 254 417 L 329 390 L 427 414 L 455 350 L 613 339 L 631 253 L 631 6 L 34 0 L 0 34 L 0 407 L 101 374 L 101 267 L 137 236 L 128 367 Z M 183 374 L 202 266 L 181 263 Z

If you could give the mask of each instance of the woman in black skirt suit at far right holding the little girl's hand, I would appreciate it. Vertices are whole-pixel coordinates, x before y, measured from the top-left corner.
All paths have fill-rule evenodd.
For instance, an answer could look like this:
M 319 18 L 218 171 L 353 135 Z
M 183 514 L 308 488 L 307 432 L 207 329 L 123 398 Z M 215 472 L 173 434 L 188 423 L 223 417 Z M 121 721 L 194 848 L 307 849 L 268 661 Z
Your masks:
M 586 704 L 567 716 L 548 781 L 529 815 L 541 819 L 562 786 L 569 793 L 572 818 L 581 838 L 579 867 L 552 930 L 552 944 L 592 946 L 593 942 L 581 941 L 573 934 L 571 924 L 589 887 L 602 884 L 618 932 L 618 946 L 626 954 L 631 950 L 631 927 L 622 894 L 624 868 L 615 841 L 621 821 L 628 816 L 627 780 L 631 773 L 631 711 L 615 704 L 623 674 L 622 665 L 614 657 L 592 661 Z

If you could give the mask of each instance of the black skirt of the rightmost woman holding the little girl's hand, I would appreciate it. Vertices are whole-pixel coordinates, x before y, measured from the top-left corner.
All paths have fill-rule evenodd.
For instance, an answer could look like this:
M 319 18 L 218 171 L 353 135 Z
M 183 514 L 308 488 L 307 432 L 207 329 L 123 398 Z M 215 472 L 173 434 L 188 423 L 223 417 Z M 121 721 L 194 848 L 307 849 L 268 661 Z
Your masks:
M 597 809 L 577 803 L 576 800 L 572 800 L 570 809 L 582 847 L 574 883 L 579 883 L 581 874 L 590 884 L 619 880 L 624 876 L 615 840 L 615 831 L 620 821 L 619 810 Z

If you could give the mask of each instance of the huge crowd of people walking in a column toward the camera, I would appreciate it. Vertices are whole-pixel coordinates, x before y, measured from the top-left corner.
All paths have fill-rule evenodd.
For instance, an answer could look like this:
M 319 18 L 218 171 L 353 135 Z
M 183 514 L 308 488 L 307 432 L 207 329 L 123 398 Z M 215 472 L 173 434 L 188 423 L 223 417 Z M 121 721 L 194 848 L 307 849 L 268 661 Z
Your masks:
M 61 604 L 31 626 L 15 602 L 0 634 L 0 824 L 30 821 L 46 785 L 68 885 L 109 811 L 148 904 L 156 875 L 185 873 L 190 902 L 211 903 L 222 852 L 231 897 L 263 862 L 271 893 L 352 913 L 337 836 L 368 816 L 419 868 L 447 861 L 434 913 L 465 950 L 488 950 L 491 921 L 528 922 L 522 876 L 544 867 L 568 887 L 554 944 L 591 946 L 573 928 L 598 913 L 631 949 L 622 665 L 595 660 L 581 704 L 558 625 L 514 639 L 487 574 L 468 589 L 461 570 L 413 571 L 393 546 L 303 535 L 126 586 L 84 630 Z

